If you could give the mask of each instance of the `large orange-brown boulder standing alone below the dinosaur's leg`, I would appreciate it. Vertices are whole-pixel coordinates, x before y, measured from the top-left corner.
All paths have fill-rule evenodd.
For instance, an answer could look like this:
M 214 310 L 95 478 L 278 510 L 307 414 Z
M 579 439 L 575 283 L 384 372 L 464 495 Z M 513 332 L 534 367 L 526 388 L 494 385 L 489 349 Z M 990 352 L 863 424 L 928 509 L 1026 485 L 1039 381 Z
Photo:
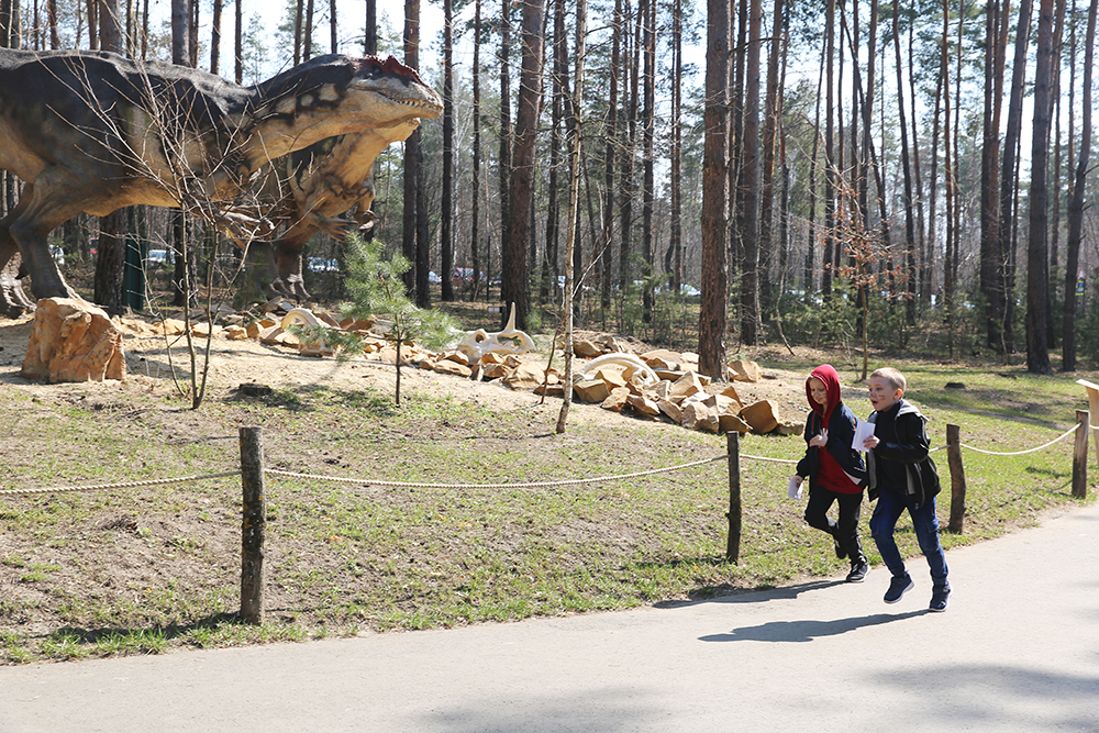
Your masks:
M 20 374 L 52 382 L 125 379 L 122 332 L 82 300 L 40 300 Z

